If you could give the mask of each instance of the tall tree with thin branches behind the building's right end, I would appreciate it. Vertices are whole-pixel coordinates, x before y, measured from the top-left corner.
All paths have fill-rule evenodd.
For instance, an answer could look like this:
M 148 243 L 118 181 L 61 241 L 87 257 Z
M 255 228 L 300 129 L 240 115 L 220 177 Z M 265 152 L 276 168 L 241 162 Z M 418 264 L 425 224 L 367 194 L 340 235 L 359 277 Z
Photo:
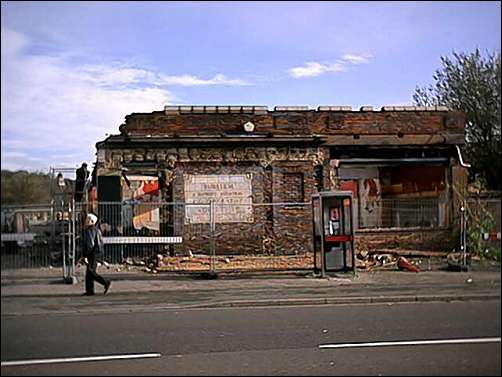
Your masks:
M 419 106 L 443 105 L 464 112 L 470 179 L 500 190 L 500 52 L 453 52 L 453 58 L 442 56 L 441 63 L 434 84 L 417 86 L 413 100 Z

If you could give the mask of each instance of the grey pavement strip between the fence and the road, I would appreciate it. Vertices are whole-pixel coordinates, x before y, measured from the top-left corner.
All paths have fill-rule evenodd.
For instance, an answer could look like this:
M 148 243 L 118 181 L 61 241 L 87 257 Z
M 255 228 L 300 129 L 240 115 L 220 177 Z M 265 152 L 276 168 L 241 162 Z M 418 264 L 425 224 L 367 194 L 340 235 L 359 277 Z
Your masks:
M 59 269 L 2 271 L 2 315 L 53 312 L 132 311 L 279 305 L 367 304 L 416 301 L 500 300 L 500 268 L 487 271 L 358 271 L 326 278 L 311 272 L 195 274 L 116 272 L 110 292 L 96 284 L 96 296 L 84 292 L 84 272 L 65 284 Z M 92 300 L 93 305 L 89 305 Z M 51 305 L 47 305 L 47 303 Z

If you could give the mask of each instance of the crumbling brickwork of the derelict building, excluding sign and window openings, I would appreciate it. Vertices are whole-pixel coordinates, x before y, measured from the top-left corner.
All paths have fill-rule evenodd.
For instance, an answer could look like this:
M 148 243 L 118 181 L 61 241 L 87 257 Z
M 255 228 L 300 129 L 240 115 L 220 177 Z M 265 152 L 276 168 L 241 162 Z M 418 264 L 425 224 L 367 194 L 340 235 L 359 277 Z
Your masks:
M 228 108 L 213 109 L 213 113 L 207 113 L 206 108 L 196 111 L 195 107 L 183 107 L 186 111 L 175 108 L 172 111 L 166 109 L 128 115 L 126 123 L 120 127 L 121 135 L 114 135 L 97 144 L 97 174 L 118 175 L 127 163 L 154 162 L 159 164 L 159 169 L 162 170 L 159 173 L 164 174 L 166 180 L 172 178 L 171 174 L 174 172 L 172 196 L 164 188 L 163 198 L 183 202 L 183 174 L 251 173 L 253 203 L 284 202 L 300 198 L 302 195 L 292 187 L 292 184 L 298 182 L 298 176 L 290 176 L 288 180 L 285 175 L 302 174 L 303 198 L 305 202 L 309 202 L 316 190 L 314 166 L 323 167 L 319 179 L 322 184 L 318 186 L 324 186 L 325 189 L 332 187 L 333 177 L 330 173 L 334 171 L 332 163 L 337 160 L 330 153 L 340 145 L 356 148 L 373 145 L 377 155 L 378 146 L 386 145 L 402 145 L 404 148 L 409 145 L 440 145 L 442 148 L 450 145 L 453 148 L 453 144 L 463 142 L 464 136 L 463 114 L 438 109 L 262 109 L 246 112 L 244 108 Z M 259 146 L 251 143 L 258 139 L 246 139 L 250 136 L 243 131 L 243 125 L 247 122 L 254 124 L 251 136 L 261 139 Z M 233 138 L 234 133 L 243 138 Z M 308 137 L 304 137 L 303 141 L 295 140 L 302 135 Z M 277 141 L 280 138 L 286 139 L 286 142 L 283 140 L 281 144 Z M 290 142 L 291 140 L 294 142 Z M 301 147 L 297 148 L 295 145 Z M 319 151 L 323 153 L 318 153 Z M 169 166 L 171 162 L 175 165 L 174 170 Z M 455 177 L 452 181 L 455 183 Z M 453 218 L 456 212 L 454 208 Z M 162 216 L 163 220 L 168 218 L 167 215 Z M 310 207 L 256 207 L 253 216 L 253 223 L 217 224 L 216 250 L 222 254 L 294 254 L 311 250 Z M 209 251 L 208 226 L 193 225 L 183 227 L 183 231 L 186 249 L 205 253 Z M 396 245 L 436 250 L 444 246 L 445 239 L 448 242 L 455 239 L 454 232 L 439 230 L 407 233 L 389 230 L 360 234 L 357 243 L 361 248 Z

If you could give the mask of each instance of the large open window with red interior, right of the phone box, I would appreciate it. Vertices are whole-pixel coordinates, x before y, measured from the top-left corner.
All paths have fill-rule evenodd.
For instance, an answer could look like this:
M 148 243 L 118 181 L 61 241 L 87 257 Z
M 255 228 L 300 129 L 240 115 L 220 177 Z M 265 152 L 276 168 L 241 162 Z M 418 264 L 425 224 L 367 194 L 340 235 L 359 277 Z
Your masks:
M 358 228 L 446 225 L 444 166 L 340 168 L 340 189 L 353 192 Z

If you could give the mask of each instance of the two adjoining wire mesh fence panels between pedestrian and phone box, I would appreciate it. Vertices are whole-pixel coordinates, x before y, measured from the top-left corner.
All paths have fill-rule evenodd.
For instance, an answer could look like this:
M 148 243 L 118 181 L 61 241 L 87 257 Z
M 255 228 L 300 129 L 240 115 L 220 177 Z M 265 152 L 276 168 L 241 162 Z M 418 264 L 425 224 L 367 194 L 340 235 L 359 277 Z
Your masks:
M 310 203 L 99 203 L 110 263 L 161 271 L 313 268 Z M 301 231 L 300 231 L 301 230 Z

